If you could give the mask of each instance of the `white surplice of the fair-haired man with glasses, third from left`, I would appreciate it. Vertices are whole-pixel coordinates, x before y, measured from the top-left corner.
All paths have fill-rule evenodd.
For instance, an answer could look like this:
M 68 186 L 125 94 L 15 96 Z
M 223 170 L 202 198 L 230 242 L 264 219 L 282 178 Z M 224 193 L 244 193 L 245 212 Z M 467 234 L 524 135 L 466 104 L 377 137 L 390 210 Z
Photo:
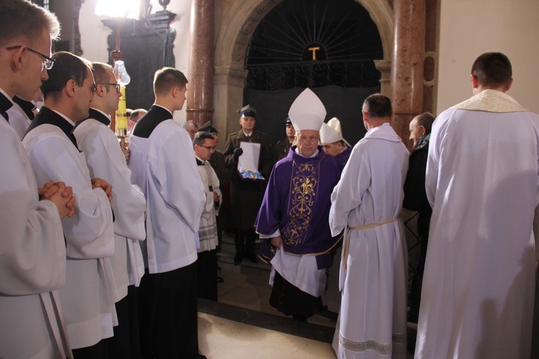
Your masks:
M 85 155 L 92 178 L 102 178 L 112 185 L 115 244 L 111 263 L 116 284 L 114 300 L 120 301 L 128 295 L 128 285 L 138 286 L 144 275 L 139 241 L 146 238 L 146 199 L 141 189 L 131 184 L 131 170 L 125 162 L 118 138 L 109 127 L 88 118 L 75 127 L 73 134 Z

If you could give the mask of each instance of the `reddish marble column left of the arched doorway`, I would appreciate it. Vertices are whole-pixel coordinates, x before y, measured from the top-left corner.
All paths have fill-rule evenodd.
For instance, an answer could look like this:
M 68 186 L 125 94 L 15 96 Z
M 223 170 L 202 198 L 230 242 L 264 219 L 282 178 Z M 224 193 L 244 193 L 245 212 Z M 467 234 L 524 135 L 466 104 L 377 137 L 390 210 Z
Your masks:
M 213 27 L 214 0 L 193 0 L 187 120 L 204 125 L 213 118 Z

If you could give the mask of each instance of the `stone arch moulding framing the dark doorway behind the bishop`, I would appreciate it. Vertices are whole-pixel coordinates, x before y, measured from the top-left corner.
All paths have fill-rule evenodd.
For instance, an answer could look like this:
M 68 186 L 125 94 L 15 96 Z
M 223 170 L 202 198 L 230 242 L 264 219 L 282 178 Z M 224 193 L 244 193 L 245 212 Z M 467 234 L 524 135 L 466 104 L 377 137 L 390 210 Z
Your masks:
M 238 130 L 237 108 L 243 103 L 243 88 L 247 70 L 245 53 L 256 26 L 266 14 L 283 0 L 242 0 L 230 4 L 219 1 L 216 13 L 221 19 L 216 28 L 213 122 L 221 133 Z M 387 0 L 354 0 L 371 15 L 382 41 L 383 59 L 375 61 L 382 73 L 381 92 L 390 95 L 390 59 L 393 49 L 393 10 Z M 225 138 L 222 139 L 224 145 Z

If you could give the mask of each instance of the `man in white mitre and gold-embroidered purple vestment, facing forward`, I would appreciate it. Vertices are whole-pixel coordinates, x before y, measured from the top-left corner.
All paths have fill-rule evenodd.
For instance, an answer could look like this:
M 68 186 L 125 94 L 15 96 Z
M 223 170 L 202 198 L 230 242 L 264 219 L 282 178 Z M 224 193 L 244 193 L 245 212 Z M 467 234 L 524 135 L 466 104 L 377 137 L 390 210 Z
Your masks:
M 296 145 L 273 168 L 255 227 L 262 239 L 259 256 L 272 265 L 271 306 L 306 321 L 322 309 L 326 269 L 338 242 L 328 215 L 339 170 L 318 146 L 326 108 L 314 92 L 305 89 L 288 116 Z

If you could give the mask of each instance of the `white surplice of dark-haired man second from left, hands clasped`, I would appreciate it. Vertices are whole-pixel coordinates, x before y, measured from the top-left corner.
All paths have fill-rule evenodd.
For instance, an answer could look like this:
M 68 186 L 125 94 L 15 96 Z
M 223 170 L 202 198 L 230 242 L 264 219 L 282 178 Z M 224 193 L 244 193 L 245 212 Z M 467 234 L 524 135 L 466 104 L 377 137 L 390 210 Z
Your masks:
M 37 184 L 63 181 L 73 187 L 75 215 L 62 220 L 67 267 L 60 297 L 71 346 L 92 346 L 112 336 L 117 322 L 109 282 L 108 257 L 114 253 L 109 199 L 102 189 L 92 189 L 84 155 L 58 127 L 36 127 L 25 136 L 23 146 Z

